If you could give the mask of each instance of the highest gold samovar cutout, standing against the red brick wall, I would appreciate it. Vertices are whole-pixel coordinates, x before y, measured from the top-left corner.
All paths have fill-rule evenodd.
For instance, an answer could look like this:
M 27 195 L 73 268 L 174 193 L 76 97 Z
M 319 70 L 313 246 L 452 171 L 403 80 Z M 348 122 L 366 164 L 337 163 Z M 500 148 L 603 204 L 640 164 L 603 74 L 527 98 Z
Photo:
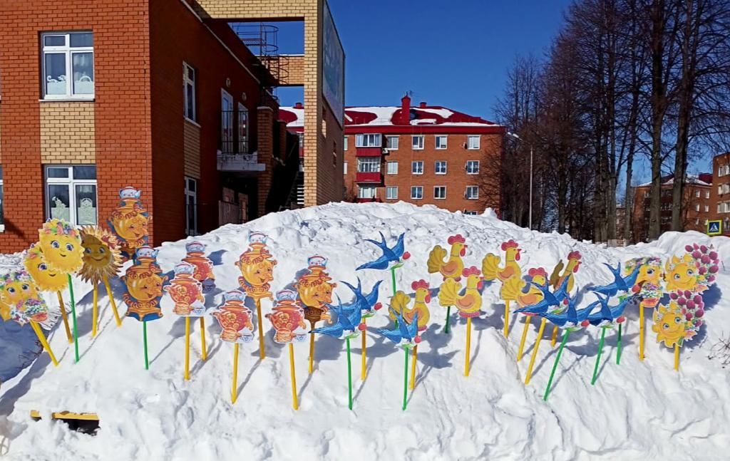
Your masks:
M 119 190 L 120 203 L 107 220 L 109 228 L 119 239 L 123 257 L 132 257 L 149 241 L 148 226 L 152 216 L 139 199 L 142 191 L 127 186 Z

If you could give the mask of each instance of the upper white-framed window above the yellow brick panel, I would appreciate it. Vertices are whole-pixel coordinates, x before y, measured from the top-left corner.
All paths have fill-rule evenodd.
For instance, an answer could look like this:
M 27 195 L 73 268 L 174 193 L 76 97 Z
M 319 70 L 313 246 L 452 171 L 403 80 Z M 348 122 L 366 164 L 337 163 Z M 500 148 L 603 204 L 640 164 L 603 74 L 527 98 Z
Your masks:
M 42 34 L 43 97 L 93 98 L 93 34 Z

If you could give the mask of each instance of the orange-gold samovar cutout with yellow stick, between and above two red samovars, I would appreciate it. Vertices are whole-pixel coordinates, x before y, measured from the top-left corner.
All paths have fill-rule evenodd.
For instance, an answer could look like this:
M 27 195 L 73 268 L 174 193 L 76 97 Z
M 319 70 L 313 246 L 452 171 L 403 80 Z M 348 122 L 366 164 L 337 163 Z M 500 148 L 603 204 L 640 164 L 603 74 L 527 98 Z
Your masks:
M 236 261 L 236 266 L 241 271 L 238 284 L 255 302 L 259 331 L 263 329 L 261 326 L 261 298 L 273 299 L 272 292 L 269 291 L 271 290 L 269 282 L 274 279 L 274 266 L 277 263 L 269 253 L 269 249 L 266 248 L 266 239 L 264 233 L 251 233 L 248 238 L 248 249 Z M 266 357 L 264 336 L 261 334 L 258 335 L 258 353 L 262 360 Z

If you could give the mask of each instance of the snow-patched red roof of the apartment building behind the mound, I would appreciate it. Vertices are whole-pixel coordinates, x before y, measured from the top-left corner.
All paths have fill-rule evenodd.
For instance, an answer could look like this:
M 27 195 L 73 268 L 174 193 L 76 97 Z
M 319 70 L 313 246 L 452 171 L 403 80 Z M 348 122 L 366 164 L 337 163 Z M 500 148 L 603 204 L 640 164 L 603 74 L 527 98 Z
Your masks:
M 289 128 L 304 126 L 304 109 L 281 107 L 279 117 Z M 345 107 L 346 126 L 393 126 L 400 125 L 401 106 L 356 106 Z M 442 106 L 410 108 L 410 125 L 442 125 L 452 127 L 499 127 L 499 124 L 481 117 L 456 112 Z

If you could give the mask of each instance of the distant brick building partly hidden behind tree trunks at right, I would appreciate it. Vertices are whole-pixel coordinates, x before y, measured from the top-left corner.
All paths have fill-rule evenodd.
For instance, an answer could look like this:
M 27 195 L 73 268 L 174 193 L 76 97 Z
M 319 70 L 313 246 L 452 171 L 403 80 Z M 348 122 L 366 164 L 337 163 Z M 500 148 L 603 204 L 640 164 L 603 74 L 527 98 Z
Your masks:
M 669 175 L 661 179 L 661 232 L 672 228 L 672 185 L 674 178 Z M 651 183 L 634 187 L 634 206 L 631 229 L 634 241 L 647 241 L 649 238 L 649 210 Z M 685 180 L 684 228 L 704 232 L 707 220 L 714 219 L 712 207 L 712 174 L 688 175 Z

